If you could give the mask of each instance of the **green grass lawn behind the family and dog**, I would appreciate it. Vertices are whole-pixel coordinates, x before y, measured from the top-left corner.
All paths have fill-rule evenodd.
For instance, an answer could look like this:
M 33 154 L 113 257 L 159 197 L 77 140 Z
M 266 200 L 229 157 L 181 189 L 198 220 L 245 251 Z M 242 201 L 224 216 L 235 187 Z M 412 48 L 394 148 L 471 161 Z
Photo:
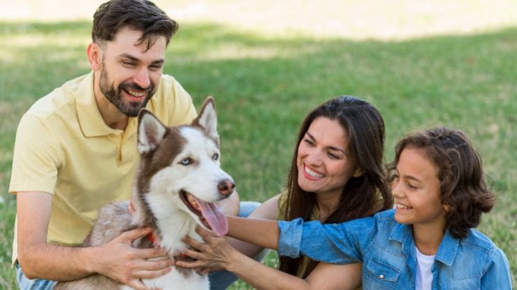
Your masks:
M 266 37 L 186 22 L 167 50 L 174 75 L 199 106 L 215 97 L 223 166 L 242 200 L 281 191 L 298 125 L 317 104 L 357 95 L 386 121 L 386 161 L 404 133 L 462 128 L 480 151 L 498 202 L 480 230 L 505 251 L 517 278 L 517 28 L 403 41 Z M 0 288 L 10 269 L 15 197 L 8 194 L 17 123 L 30 104 L 89 71 L 86 21 L 0 23 Z M 275 264 L 270 255 L 268 264 Z M 233 288 L 245 288 L 242 282 Z M 514 284 L 515 287 L 515 284 Z

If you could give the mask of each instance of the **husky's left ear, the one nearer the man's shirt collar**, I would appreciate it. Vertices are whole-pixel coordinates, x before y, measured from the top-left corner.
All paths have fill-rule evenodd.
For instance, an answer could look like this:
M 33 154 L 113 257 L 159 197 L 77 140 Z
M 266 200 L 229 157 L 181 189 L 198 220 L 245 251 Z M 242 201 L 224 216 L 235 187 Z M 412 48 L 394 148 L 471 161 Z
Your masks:
M 156 149 L 166 131 L 167 127 L 149 110 L 140 110 L 138 113 L 138 153 L 141 155 Z

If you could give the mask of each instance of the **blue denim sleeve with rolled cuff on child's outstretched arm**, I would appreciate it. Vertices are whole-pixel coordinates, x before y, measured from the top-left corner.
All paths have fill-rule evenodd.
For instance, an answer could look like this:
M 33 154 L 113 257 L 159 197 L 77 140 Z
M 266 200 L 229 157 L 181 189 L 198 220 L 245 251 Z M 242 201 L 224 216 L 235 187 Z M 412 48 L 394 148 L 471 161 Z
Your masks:
M 279 222 L 278 253 L 297 258 L 300 253 L 312 260 L 332 264 L 361 262 L 363 253 L 377 229 L 373 218 L 362 218 L 341 224 L 319 221 Z

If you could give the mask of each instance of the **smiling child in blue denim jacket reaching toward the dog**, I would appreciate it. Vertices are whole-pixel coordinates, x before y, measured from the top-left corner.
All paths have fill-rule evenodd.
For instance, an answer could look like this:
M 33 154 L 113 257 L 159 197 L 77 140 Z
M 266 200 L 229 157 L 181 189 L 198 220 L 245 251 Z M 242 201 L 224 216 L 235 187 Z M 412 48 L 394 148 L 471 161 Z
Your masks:
M 229 234 L 293 258 L 363 262 L 364 289 L 511 289 L 505 254 L 472 229 L 495 197 L 464 133 L 409 135 L 390 169 L 396 209 L 341 224 L 246 222 L 248 233 L 230 218 Z

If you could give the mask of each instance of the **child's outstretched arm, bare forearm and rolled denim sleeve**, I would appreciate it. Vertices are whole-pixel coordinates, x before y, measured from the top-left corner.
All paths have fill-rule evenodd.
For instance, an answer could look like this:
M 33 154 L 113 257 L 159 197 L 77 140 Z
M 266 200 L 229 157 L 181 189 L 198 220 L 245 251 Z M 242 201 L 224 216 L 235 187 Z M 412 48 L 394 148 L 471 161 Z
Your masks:
M 387 213 L 383 216 L 390 216 Z M 341 224 L 303 222 L 301 218 L 286 221 L 228 218 L 228 235 L 260 247 L 277 250 L 280 255 L 297 258 L 300 254 L 311 260 L 332 264 L 361 262 L 379 233 L 377 218 L 368 217 Z M 395 222 L 391 222 L 394 224 Z M 385 223 L 386 224 L 386 223 Z M 386 230 L 389 230 L 390 226 Z

